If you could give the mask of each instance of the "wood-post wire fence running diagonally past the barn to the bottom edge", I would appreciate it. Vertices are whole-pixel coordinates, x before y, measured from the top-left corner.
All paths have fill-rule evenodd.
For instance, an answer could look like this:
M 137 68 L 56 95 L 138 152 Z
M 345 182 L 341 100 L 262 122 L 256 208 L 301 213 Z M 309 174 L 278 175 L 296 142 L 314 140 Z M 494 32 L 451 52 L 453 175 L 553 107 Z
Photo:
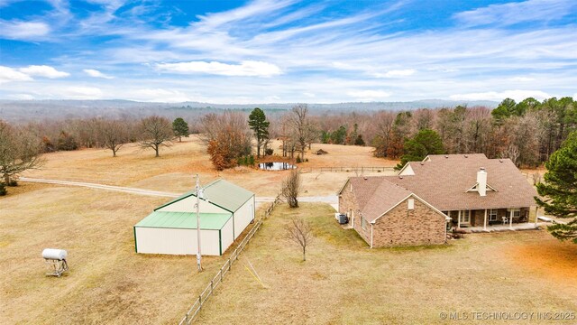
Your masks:
M 254 237 L 254 234 L 256 234 L 256 232 L 261 228 L 262 221 L 270 216 L 274 208 L 281 201 L 282 200 L 280 199 L 280 195 L 278 195 L 275 200 L 270 203 L 270 206 L 264 211 L 264 215 L 254 224 L 254 227 L 252 227 L 246 237 L 243 238 L 243 241 L 241 241 L 241 243 L 236 246 L 233 253 L 228 257 L 226 262 L 224 262 L 224 265 L 220 268 L 220 270 L 218 270 L 215 277 L 210 280 L 210 283 L 206 285 L 205 290 L 203 290 L 203 292 L 198 295 L 197 300 L 192 304 L 182 320 L 180 320 L 179 325 L 188 325 L 195 319 L 195 317 L 197 317 L 198 312 L 200 312 L 202 309 L 202 306 L 208 301 L 208 298 L 213 294 L 216 287 L 223 283 L 224 276 L 226 276 L 226 274 L 231 271 L 234 263 L 238 261 L 238 256 L 241 255 L 244 247 L 246 247 L 246 245 L 251 241 L 252 237 Z

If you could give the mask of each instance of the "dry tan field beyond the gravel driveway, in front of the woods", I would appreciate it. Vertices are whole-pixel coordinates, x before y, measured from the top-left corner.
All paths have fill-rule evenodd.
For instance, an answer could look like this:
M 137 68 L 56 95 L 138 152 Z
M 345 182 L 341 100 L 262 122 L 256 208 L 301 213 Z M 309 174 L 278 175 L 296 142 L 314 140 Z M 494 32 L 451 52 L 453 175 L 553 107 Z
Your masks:
M 273 142 L 273 147 L 278 145 L 278 142 Z M 328 154 L 307 153 L 309 162 L 302 163 L 303 167 L 379 167 L 397 163 L 373 157 L 371 147 L 313 144 L 311 152 L 320 148 Z M 44 157 L 46 164 L 41 170 L 26 172 L 24 176 L 181 193 L 193 186 L 192 175 L 198 173 L 203 183 L 223 177 L 243 184 L 258 196 L 274 197 L 279 192 L 280 181 L 287 175 L 287 172 L 263 172 L 250 168 L 216 172 L 206 153 L 206 146 L 196 135 L 163 148 L 159 158 L 154 157 L 153 151 L 142 151 L 136 144 L 125 145 L 115 158 L 112 152 L 104 149 L 48 153 Z M 303 174 L 303 190 L 307 195 L 334 194 L 353 175 L 353 172 L 307 172 Z

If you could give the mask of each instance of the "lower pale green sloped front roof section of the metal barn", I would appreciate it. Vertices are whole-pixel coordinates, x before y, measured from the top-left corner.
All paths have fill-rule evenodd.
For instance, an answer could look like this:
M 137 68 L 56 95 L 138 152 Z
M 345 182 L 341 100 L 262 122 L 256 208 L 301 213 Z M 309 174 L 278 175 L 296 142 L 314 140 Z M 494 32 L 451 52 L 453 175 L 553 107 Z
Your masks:
M 200 213 L 200 228 L 219 230 L 233 217 L 231 213 Z M 134 227 L 196 229 L 197 214 L 194 212 L 154 211 Z

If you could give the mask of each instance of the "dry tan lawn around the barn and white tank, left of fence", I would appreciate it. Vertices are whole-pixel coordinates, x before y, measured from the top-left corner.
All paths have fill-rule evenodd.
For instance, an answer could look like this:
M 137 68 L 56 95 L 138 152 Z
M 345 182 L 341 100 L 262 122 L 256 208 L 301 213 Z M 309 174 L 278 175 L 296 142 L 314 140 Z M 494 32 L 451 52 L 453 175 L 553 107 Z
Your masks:
M 11 188 L 12 190 L 12 188 Z M 133 225 L 166 198 L 23 183 L 0 199 L 0 323 L 177 323 L 224 263 L 139 255 Z M 44 248 L 69 252 L 69 273 L 46 276 Z

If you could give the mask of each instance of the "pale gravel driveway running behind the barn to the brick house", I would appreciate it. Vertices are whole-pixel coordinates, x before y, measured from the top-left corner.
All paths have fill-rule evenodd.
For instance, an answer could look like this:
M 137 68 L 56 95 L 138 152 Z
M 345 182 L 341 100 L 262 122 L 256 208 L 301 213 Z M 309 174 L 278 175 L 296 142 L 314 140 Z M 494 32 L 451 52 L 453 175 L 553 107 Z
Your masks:
M 55 185 L 67 185 L 67 186 L 80 186 L 86 187 L 89 189 L 96 189 L 96 190 L 115 190 L 121 191 L 125 193 L 131 194 L 138 194 L 138 195 L 148 195 L 148 196 L 157 196 L 157 197 L 165 197 L 165 198 L 178 198 L 180 195 L 179 193 L 171 193 L 171 192 L 164 192 L 159 190 L 143 190 L 143 189 L 135 189 L 123 186 L 113 186 L 113 185 L 104 185 L 104 184 L 96 184 L 96 183 L 89 183 L 84 181 L 59 181 L 59 180 L 46 180 L 46 179 L 36 179 L 36 178 L 29 178 L 29 177 L 21 177 L 19 181 L 30 181 L 30 182 L 40 182 L 46 184 L 55 184 Z M 270 197 L 256 197 L 257 206 L 261 205 L 262 203 L 272 202 L 275 198 Z M 301 202 L 322 202 L 327 203 L 333 206 L 336 209 L 338 204 L 338 197 L 336 195 L 329 195 L 329 196 L 307 196 L 307 197 L 299 197 L 298 200 Z

